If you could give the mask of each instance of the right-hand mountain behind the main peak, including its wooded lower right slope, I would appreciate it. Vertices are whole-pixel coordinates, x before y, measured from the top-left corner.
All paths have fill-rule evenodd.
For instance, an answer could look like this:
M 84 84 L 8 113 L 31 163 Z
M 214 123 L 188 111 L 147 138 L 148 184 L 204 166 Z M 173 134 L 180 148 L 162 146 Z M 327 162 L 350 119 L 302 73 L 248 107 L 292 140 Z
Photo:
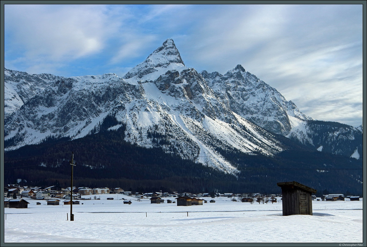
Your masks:
M 201 74 L 230 110 L 266 130 L 333 154 L 351 156 L 362 148 L 362 126 L 316 121 L 240 64 L 224 75 L 205 70 Z

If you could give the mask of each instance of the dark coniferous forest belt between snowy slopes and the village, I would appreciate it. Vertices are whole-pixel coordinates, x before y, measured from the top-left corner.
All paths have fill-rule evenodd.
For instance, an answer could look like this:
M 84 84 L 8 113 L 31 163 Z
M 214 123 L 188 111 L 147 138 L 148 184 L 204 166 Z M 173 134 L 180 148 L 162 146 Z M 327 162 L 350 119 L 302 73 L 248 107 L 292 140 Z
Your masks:
M 69 161 L 74 152 L 74 186 L 121 187 L 137 192 L 181 191 L 222 193 L 281 193 L 277 182 L 297 181 L 330 193 L 361 195 L 362 160 L 318 152 L 278 135 L 287 149 L 274 157 L 246 155 L 239 150 L 217 152 L 240 171 L 226 174 L 200 163 L 167 154 L 160 143 L 164 135 L 148 133 L 156 143 L 143 148 L 124 140 L 126 126 L 107 131 L 119 124 L 108 116 L 90 135 L 68 140 L 48 138 L 43 143 L 5 153 L 5 184 L 19 178 L 24 185 L 70 186 Z

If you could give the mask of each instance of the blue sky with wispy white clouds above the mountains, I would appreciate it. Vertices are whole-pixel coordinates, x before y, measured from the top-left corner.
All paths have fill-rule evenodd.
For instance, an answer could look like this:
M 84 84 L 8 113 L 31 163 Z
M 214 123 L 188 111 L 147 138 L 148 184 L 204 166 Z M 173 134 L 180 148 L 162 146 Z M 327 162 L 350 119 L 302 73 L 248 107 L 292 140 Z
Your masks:
M 359 126 L 362 5 L 5 5 L 5 67 L 123 76 L 167 38 L 188 67 L 241 64 L 305 114 Z

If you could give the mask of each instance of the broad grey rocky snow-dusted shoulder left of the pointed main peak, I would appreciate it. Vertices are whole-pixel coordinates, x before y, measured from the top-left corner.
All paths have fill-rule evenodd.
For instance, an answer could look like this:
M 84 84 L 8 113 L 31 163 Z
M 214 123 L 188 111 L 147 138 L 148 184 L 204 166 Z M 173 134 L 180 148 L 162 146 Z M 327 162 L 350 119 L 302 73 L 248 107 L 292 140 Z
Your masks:
M 14 149 L 48 136 L 82 137 L 113 109 L 139 97 L 139 86 L 115 74 L 56 80 L 5 119 L 5 140 L 18 139 Z

